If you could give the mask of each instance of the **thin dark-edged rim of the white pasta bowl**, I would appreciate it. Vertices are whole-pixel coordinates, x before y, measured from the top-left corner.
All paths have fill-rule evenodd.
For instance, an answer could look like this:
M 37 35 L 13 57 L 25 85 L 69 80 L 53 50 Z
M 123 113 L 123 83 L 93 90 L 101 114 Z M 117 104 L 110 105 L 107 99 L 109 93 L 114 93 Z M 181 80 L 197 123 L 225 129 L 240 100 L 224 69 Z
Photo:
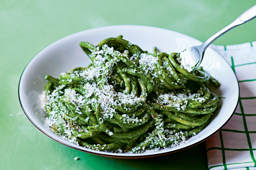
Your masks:
M 153 27 L 153 26 L 141 26 L 141 25 L 114 25 L 114 26 L 104 26 L 104 27 L 96 27 L 96 28 L 91 28 L 91 29 L 86 29 L 86 30 L 83 30 L 83 31 L 89 31 L 89 30 L 93 30 L 93 29 L 103 29 L 103 28 L 107 28 L 107 27 L 120 27 L 120 26 L 134 26 L 134 27 L 151 27 L 151 28 L 157 28 L 157 29 L 163 29 L 163 30 L 167 30 L 167 31 L 173 31 L 173 30 L 169 30 L 169 29 L 164 29 L 164 28 L 160 28 L 160 27 Z M 70 37 L 72 35 L 75 35 L 75 34 L 78 34 L 78 33 L 82 33 L 83 31 L 79 31 L 79 32 L 76 32 L 76 33 L 72 33 L 70 35 L 67 35 L 65 37 L 62 37 L 52 43 L 50 43 L 48 46 L 51 46 L 52 44 L 58 42 L 58 41 L 61 41 L 63 38 L 66 38 L 66 37 Z M 182 34 L 182 35 L 186 35 L 186 34 L 183 34 L 183 33 L 179 33 L 177 31 L 173 31 L 175 33 L 178 33 L 178 34 Z M 188 36 L 188 35 L 186 35 Z M 190 36 L 188 36 L 190 37 Z M 190 38 L 193 38 L 193 37 L 190 37 Z M 196 39 L 196 38 L 194 38 Z M 197 40 L 197 39 L 196 39 Z M 198 40 L 199 41 L 199 40 Z M 96 150 L 94 152 L 94 150 L 82 150 L 81 148 L 78 148 L 76 146 L 72 146 L 68 143 L 64 143 L 60 140 L 58 140 L 57 138 L 54 138 L 52 137 L 50 134 L 46 133 L 44 130 L 42 130 L 39 126 L 37 126 L 37 124 L 35 122 L 32 121 L 32 119 L 29 117 L 29 115 L 26 113 L 23 105 L 22 105 L 22 102 L 21 102 L 21 99 L 20 99 L 20 82 L 22 80 L 22 76 L 23 76 L 23 73 L 25 71 L 25 69 L 27 68 L 27 66 L 30 64 L 30 62 L 39 54 L 41 53 L 41 51 L 43 51 L 44 49 L 48 48 L 48 46 L 46 46 L 45 48 L 41 49 L 36 55 L 34 55 L 31 60 L 28 62 L 28 64 L 26 64 L 25 68 L 23 69 L 22 71 L 22 74 L 20 75 L 20 80 L 19 80 L 19 86 L 18 86 L 18 96 L 19 96 L 19 102 L 20 102 L 20 106 L 23 110 L 23 112 L 25 113 L 26 117 L 30 120 L 30 122 L 32 122 L 32 124 L 37 128 L 39 129 L 41 132 L 43 132 L 45 135 L 47 135 L 48 137 L 50 137 L 51 139 L 54 139 L 55 141 L 61 143 L 61 144 L 64 144 L 65 146 L 69 146 L 70 148 L 74 148 L 76 150 L 80 150 L 82 152 L 86 152 L 86 153 L 90 153 L 90 154 L 95 154 L 95 155 L 101 155 L 101 156 L 105 156 L 105 157 L 112 157 L 112 158 L 121 158 L 121 159 L 138 159 L 138 158 L 148 158 L 148 157 L 155 157 L 155 156 L 160 156 L 160 155 L 166 155 L 166 154 L 171 154 L 171 153 L 174 153 L 174 152 L 178 152 L 178 151 L 181 151 L 181 150 L 185 150 L 187 148 L 190 148 L 192 146 L 195 146 L 199 143 L 202 143 L 203 141 L 206 141 L 207 139 L 209 139 L 210 137 L 212 137 L 215 133 L 219 132 L 219 130 L 221 130 L 223 128 L 223 126 L 231 119 L 231 117 L 234 115 L 235 111 L 236 111 L 236 108 L 238 106 L 238 103 L 239 103 L 239 97 L 240 97 L 240 88 L 239 88 L 239 82 L 237 80 L 237 77 L 236 77 L 236 74 L 234 73 L 235 77 L 236 77 L 236 81 L 237 81 L 237 85 L 238 85 L 238 97 L 237 97 L 237 102 L 236 102 L 236 107 L 234 108 L 234 111 L 232 112 L 232 114 L 230 115 L 230 117 L 227 119 L 227 121 L 219 128 L 217 129 L 215 132 L 211 133 L 211 135 L 208 135 L 207 137 L 205 137 L 204 139 L 201 139 L 200 141 L 194 143 L 194 144 L 190 144 L 189 146 L 186 146 L 186 147 L 183 147 L 183 148 L 179 148 L 179 149 L 176 149 L 176 150 L 171 150 L 171 151 L 167 151 L 167 152 L 162 152 L 162 153 L 157 153 L 157 152 L 152 152 L 150 153 L 150 155 L 138 155 L 138 154 L 122 154 L 122 155 L 108 155 L 108 152 L 105 152 L 105 153 L 97 153 Z M 215 51 L 214 49 L 212 49 L 211 47 L 209 47 L 211 50 Z M 215 51 L 216 52 L 216 51 Z M 217 53 L 217 52 L 216 52 Z M 221 55 L 220 55 L 221 56 Z M 222 56 L 221 56 L 222 57 Z M 223 58 L 224 59 L 224 58 Z M 229 63 L 224 59 L 224 61 L 229 65 Z M 230 65 L 229 65 L 230 66 Z M 230 66 L 231 67 L 231 66 Z M 232 68 L 231 68 L 232 69 Z

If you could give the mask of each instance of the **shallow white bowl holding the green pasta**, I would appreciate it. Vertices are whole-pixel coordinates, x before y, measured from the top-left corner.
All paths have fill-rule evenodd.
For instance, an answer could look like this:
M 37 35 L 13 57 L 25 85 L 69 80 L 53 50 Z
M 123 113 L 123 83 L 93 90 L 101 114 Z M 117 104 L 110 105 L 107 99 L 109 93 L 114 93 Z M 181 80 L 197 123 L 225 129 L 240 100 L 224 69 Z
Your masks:
M 28 119 L 39 130 L 59 143 L 84 152 L 109 157 L 138 158 L 163 155 L 183 150 L 208 139 L 228 122 L 238 103 L 238 82 L 234 71 L 232 71 L 226 60 L 213 49 L 208 48 L 201 66 L 221 83 L 220 88 L 211 89 L 211 91 L 223 97 L 221 98 L 222 107 L 214 114 L 210 124 L 196 136 L 189 138 L 188 143 L 169 150 L 160 150 L 152 153 L 116 154 L 91 150 L 69 143 L 48 130 L 48 128 L 44 126 L 46 113 L 39 103 L 39 95 L 44 90 L 44 86 L 47 82 L 44 79 L 45 75 L 49 74 L 53 77 L 59 77 L 61 72 L 67 72 L 76 67 L 87 66 L 91 60 L 80 48 L 79 42 L 87 41 L 96 45 L 105 38 L 117 37 L 118 35 L 123 35 L 124 39 L 130 41 L 132 44 L 137 44 L 143 50 L 148 50 L 149 52 L 152 52 L 154 47 L 158 47 L 160 51 L 166 53 L 181 52 L 190 46 L 201 44 L 201 42 L 195 38 L 175 31 L 157 27 L 129 25 L 89 29 L 61 38 L 35 55 L 20 77 L 20 104 Z

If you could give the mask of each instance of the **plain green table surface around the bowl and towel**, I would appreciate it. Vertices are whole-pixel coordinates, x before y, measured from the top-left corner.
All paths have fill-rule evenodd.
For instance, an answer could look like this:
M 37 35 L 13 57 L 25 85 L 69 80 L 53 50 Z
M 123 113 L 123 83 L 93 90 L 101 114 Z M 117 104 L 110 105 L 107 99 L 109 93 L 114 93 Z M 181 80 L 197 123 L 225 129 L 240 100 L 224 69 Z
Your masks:
M 204 41 L 255 0 L 0 0 L 0 169 L 204 170 L 206 146 L 147 159 L 87 154 L 40 132 L 20 107 L 18 84 L 26 64 L 41 49 L 72 33 L 111 25 L 171 29 Z M 213 44 L 256 41 L 256 20 Z M 80 159 L 75 161 L 74 157 Z

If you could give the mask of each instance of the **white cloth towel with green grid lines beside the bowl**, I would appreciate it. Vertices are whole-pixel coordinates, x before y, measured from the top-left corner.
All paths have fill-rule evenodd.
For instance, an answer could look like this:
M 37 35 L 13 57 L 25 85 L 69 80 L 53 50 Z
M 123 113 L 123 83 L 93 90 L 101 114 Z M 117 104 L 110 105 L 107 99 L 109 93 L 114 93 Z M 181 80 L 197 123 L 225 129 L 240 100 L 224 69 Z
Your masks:
M 256 170 L 256 42 L 211 48 L 236 73 L 240 98 L 230 121 L 206 141 L 209 170 Z

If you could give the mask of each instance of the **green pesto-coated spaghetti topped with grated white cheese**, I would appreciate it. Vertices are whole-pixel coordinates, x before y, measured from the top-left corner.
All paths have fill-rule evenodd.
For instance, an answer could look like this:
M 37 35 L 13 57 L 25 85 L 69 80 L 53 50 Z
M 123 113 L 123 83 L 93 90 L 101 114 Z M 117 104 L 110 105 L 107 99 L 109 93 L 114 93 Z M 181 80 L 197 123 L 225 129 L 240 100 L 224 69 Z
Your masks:
M 151 54 L 122 36 L 80 46 L 88 67 L 45 77 L 46 126 L 72 143 L 132 153 L 173 147 L 206 127 L 220 106 L 206 87 L 217 80 L 182 68 L 179 53 Z

